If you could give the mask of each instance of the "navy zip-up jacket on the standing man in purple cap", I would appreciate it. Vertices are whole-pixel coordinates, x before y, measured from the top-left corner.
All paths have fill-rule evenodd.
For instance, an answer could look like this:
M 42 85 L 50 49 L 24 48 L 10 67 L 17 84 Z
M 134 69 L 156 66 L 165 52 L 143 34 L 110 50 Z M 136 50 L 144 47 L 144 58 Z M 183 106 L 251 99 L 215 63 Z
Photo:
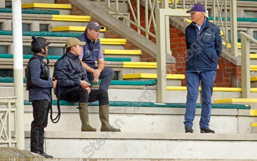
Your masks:
M 187 46 L 186 71 L 216 70 L 218 57 L 222 52 L 220 28 L 207 21 L 201 32 L 192 22 L 186 27 L 185 39 Z M 196 32 L 198 31 L 198 32 Z

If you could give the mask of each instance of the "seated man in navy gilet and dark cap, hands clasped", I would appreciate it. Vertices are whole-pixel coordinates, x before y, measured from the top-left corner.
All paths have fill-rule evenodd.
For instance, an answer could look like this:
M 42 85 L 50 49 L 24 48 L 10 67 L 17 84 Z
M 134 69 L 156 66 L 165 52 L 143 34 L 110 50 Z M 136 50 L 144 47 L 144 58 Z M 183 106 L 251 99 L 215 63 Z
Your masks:
M 86 42 L 86 45 L 82 46 L 83 50 L 79 59 L 87 71 L 88 80 L 98 84 L 99 79 L 102 79 L 99 89 L 108 91 L 114 71 L 112 68 L 105 68 L 102 46 L 98 38 L 100 29 L 104 29 L 104 27 L 91 21 L 84 34 L 77 37 L 80 41 Z M 97 60 L 97 66 L 95 66 L 95 60 Z

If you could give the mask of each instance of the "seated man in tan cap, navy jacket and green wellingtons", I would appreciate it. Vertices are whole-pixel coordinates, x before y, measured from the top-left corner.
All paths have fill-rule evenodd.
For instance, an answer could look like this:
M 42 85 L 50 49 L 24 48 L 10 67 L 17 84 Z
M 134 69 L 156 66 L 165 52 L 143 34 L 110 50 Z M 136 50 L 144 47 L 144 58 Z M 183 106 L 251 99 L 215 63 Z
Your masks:
M 72 103 L 79 102 L 81 131 L 96 131 L 88 123 L 88 102 L 99 101 L 99 117 L 102 123 L 101 131 L 120 132 L 109 124 L 109 98 L 106 90 L 90 89 L 87 71 L 82 67 L 79 56 L 82 52 L 81 42 L 71 38 L 66 42 L 66 53 L 54 64 L 53 77 L 58 81 L 59 99 Z

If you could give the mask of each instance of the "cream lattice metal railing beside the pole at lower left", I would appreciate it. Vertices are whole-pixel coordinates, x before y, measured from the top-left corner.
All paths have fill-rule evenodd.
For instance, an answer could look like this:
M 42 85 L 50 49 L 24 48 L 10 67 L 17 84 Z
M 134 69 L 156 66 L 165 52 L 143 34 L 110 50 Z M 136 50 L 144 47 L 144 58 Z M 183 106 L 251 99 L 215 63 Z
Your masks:
M 6 105 L 6 108 L 0 108 L 0 144 L 17 143 L 17 130 L 16 130 L 16 109 L 17 97 L 1 97 L 0 105 Z M 11 115 L 13 113 L 13 116 Z M 13 119 L 11 118 L 13 117 Z M 14 120 L 14 127 L 12 127 L 11 120 Z M 11 137 L 11 130 L 14 128 L 14 137 Z

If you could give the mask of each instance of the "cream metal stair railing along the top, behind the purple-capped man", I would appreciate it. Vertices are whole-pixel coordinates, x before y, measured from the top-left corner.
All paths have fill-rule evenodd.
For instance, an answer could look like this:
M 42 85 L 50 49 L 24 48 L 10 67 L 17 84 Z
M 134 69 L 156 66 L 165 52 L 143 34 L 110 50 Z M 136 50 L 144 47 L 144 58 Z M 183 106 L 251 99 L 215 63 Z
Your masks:
M 202 3 L 206 9 L 210 9 L 210 7 L 207 8 L 207 0 L 114 0 L 115 2 L 115 7 L 110 6 L 110 0 L 95 0 L 96 2 L 99 2 L 103 6 L 107 8 L 107 12 L 111 13 L 113 12 L 118 19 L 119 17 L 123 18 L 126 22 L 129 22 L 130 24 L 133 24 L 137 27 L 137 32 L 141 33 L 141 31 L 145 32 L 145 37 L 149 38 L 149 35 L 156 38 L 156 22 L 155 22 L 155 9 L 190 9 L 190 7 L 197 2 Z M 120 3 L 119 3 L 120 2 Z M 121 3 L 122 2 L 122 3 Z M 124 14 L 121 12 L 121 9 L 124 7 L 125 3 L 128 3 L 128 6 L 131 10 L 133 20 L 130 20 L 127 14 Z M 136 2 L 136 8 L 132 6 L 132 2 Z M 140 6 L 141 5 L 141 6 Z M 145 18 L 144 20 L 140 20 L 140 8 L 142 6 L 145 8 Z M 186 7 L 187 6 L 187 7 Z M 230 41 L 228 40 L 228 24 L 232 24 L 230 22 L 231 20 L 234 21 L 234 24 L 237 24 L 237 16 L 236 14 L 231 14 L 230 20 L 228 20 L 228 17 L 226 16 L 227 14 L 227 1 L 222 0 L 220 4 L 220 0 L 212 0 L 212 7 L 211 7 L 211 13 L 213 16 L 213 22 L 217 25 L 219 25 L 222 29 L 223 36 L 222 40 L 225 42 L 225 48 L 228 49 L 228 43 Z M 218 10 L 218 13 L 216 13 L 216 10 Z M 222 16 L 222 11 L 224 10 L 225 16 Z M 237 8 L 236 8 L 236 1 L 230 0 L 230 12 L 231 13 L 236 13 Z M 232 12 L 233 11 L 233 12 Z M 148 14 L 150 12 L 150 14 Z M 210 13 L 209 13 L 210 14 Z M 150 16 L 149 16 L 150 15 Z M 216 16 L 218 19 L 216 20 Z M 233 17 L 234 16 L 234 17 Z M 191 17 L 181 17 L 183 21 L 186 19 L 191 20 Z M 169 18 L 166 16 L 166 21 L 168 21 Z M 141 23 L 143 22 L 143 23 Z M 145 24 L 142 25 L 141 24 Z M 150 31 L 151 24 L 154 27 L 155 32 Z M 165 26 L 165 32 L 166 36 L 169 36 L 169 24 L 166 24 Z M 232 33 L 233 32 L 233 33 Z M 236 34 L 234 34 L 236 33 Z M 231 35 L 234 36 L 231 39 L 231 52 L 233 56 L 238 56 L 238 49 L 235 44 L 237 44 L 237 25 L 231 25 Z M 169 37 L 166 38 L 166 52 L 171 54 L 170 51 L 170 45 L 168 45 L 169 42 Z M 234 44 L 232 44 L 234 43 Z M 235 54 L 234 54 L 235 53 Z

